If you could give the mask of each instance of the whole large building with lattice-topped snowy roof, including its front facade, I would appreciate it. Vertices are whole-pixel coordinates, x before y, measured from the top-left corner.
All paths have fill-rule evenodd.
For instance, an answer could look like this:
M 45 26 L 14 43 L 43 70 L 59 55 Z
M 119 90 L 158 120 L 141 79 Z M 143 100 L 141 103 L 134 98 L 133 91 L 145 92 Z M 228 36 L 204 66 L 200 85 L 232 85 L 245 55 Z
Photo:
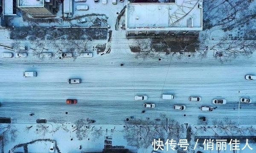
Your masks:
M 203 30 L 202 0 L 172 0 L 172 3 L 127 3 L 127 37 L 198 35 Z

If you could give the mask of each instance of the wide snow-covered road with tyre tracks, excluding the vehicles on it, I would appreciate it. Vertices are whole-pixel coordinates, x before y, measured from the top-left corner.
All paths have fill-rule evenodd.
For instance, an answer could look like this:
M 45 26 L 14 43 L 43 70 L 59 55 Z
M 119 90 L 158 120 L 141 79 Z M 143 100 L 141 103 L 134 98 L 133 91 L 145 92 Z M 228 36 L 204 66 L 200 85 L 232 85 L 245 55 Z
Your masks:
M 197 124 L 198 116 L 230 116 L 240 124 L 254 123 L 256 81 L 245 80 L 244 75 L 256 73 L 255 57 L 225 64 L 212 57 L 177 60 L 164 55 L 161 61 L 158 58 L 128 54 L 76 61 L 1 58 L 0 117 L 11 117 L 17 123 L 35 123 L 38 118 L 74 122 L 88 117 L 95 119 L 96 124 L 124 124 L 131 116 L 146 119 L 165 113 L 190 124 Z M 124 66 L 119 66 L 121 63 Z M 37 71 L 38 76 L 23 78 L 22 73 L 27 70 Z M 81 78 L 82 83 L 67 84 L 69 78 Z M 174 93 L 176 99 L 161 99 L 161 94 L 168 93 Z M 156 107 L 141 113 L 143 101 L 134 101 L 134 95 L 148 95 L 146 102 L 155 103 Z M 201 96 L 202 100 L 190 102 L 189 96 Z M 239 109 L 240 96 L 252 98 L 253 103 L 240 104 Z M 78 104 L 65 104 L 68 98 L 77 99 Z M 213 98 L 225 98 L 227 104 L 214 105 Z M 186 110 L 175 111 L 174 104 L 186 105 Z M 202 112 L 200 106 L 215 109 Z M 29 116 L 30 113 L 35 115 Z

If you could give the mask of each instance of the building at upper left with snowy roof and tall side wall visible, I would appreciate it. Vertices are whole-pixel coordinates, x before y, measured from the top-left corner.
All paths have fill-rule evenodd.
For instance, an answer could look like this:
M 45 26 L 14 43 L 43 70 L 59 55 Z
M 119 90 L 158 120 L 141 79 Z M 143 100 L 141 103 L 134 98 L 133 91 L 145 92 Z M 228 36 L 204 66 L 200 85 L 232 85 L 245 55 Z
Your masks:
M 54 17 L 60 0 L 17 0 L 18 8 L 33 17 Z

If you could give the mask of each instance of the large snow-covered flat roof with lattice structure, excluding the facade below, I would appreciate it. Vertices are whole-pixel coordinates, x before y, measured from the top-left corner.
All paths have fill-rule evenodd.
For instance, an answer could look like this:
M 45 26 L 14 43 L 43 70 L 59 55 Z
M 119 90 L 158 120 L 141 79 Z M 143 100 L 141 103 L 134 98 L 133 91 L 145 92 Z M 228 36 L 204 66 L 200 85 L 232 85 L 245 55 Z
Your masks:
M 202 0 L 175 3 L 128 3 L 127 28 L 202 28 Z

